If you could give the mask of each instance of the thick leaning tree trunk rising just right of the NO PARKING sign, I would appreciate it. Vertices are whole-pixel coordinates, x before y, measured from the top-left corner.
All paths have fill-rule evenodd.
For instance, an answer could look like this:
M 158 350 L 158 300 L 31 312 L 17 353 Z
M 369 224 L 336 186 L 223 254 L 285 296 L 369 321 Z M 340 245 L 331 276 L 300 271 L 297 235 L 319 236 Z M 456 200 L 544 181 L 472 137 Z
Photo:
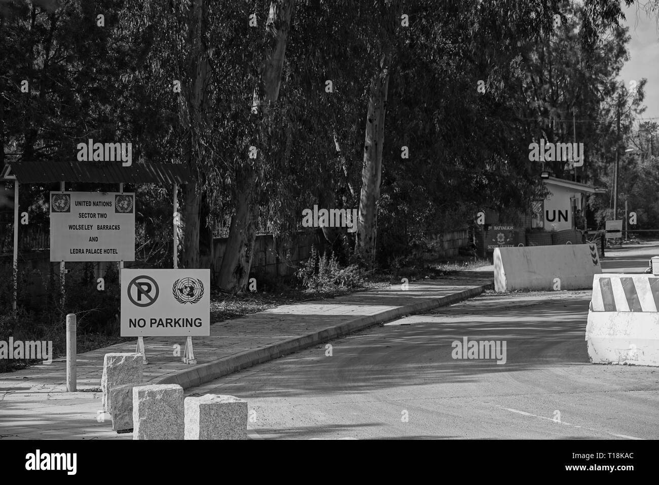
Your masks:
M 254 89 L 252 112 L 262 119 L 267 115 L 270 105 L 277 101 L 281 86 L 281 69 L 283 68 L 288 33 L 291 26 L 291 14 L 295 0 L 282 0 L 270 4 L 270 17 L 266 31 L 272 33 L 273 46 L 268 49 L 261 65 L 261 81 Z M 266 131 L 259 135 L 261 146 L 267 143 Z M 258 153 L 256 162 L 264 166 L 262 152 Z M 257 165 L 258 166 L 258 165 Z M 223 290 L 242 290 L 249 278 L 256 241 L 258 209 L 261 198 L 261 180 L 257 169 L 248 167 L 244 170 L 243 182 L 235 193 L 235 214 L 231 218 L 229 240 L 219 269 L 219 286 Z

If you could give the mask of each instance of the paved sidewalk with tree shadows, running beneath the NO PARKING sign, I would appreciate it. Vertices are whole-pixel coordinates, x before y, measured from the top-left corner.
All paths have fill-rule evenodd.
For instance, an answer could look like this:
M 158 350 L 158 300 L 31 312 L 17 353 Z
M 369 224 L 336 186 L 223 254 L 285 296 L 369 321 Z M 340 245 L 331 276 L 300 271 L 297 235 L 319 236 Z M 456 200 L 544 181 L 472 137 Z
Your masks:
M 210 337 L 192 339 L 196 365 L 181 362 L 185 337 L 146 337 L 144 379 L 179 383 L 185 389 L 371 325 L 472 298 L 491 287 L 490 274 L 463 273 L 411 282 L 409 290 L 396 285 L 214 323 Z M 0 439 L 117 437 L 109 430 L 109 415 L 100 414 L 103 356 L 134 352 L 135 346 L 127 342 L 79 354 L 76 393 L 66 392 L 65 358 L 0 374 Z

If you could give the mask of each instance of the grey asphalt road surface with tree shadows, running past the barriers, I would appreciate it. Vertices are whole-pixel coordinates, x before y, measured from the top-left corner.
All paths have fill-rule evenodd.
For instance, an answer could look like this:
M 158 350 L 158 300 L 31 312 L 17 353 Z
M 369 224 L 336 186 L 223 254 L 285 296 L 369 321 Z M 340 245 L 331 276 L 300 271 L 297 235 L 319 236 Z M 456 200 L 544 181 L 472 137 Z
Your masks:
M 641 273 L 658 248 L 616 251 Z M 618 254 L 618 252 L 621 252 Z M 659 370 L 588 362 L 590 291 L 492 292 L 188 389 L 248 400 L 262 438 L 658 439 Z M 505 364 L 453 342 L 506 342 Z

